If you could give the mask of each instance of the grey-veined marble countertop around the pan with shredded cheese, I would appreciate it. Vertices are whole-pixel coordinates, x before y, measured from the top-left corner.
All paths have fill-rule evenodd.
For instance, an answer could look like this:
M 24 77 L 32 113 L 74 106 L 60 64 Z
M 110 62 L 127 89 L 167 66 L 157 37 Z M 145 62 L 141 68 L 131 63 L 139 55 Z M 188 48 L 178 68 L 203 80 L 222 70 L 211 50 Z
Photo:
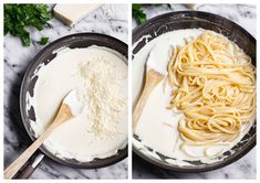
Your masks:
M 50 42 L 67 34 L 96 32 L 115 36 L 127 43 L 127 6 L 102 6 L 73 28 L 55 19 L 41 32 L 30 29 L 32 45 L 23 47 L 18 37 L 4 36 L 4 168 L 14 161 L 30 144 L 19 110 L 19 94 L 24 72 L 43 46 L 37 42 L 42 36 Z M 61 165 L 48 158 L 31 179 L 127 179 L 127 159 L 103 169 L 83 170 Z

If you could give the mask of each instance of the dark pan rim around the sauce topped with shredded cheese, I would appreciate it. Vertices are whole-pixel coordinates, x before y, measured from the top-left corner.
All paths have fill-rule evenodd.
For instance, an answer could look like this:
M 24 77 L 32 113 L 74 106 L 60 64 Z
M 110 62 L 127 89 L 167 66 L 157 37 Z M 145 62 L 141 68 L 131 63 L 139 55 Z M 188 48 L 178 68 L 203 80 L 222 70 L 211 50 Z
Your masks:
M 21 85 L 21 92 L 20 92 L 20 110 L 22 116 L 23 125 L 27 129 L 28 134 L 30 138 L 34 141 L 34 132 L 30 128 L 29 120 L 35 120 L 35 115 L 33 107 L 28 111 L 29 115 L 27 115 L 25 111 L 25 95 L 29 92 L 31 96 L 33 96 L 33 88 L 37 83 L 38 77 L 33 76 L 34 71 L 37 69 L 38 65 L 41 63 L 48 64 L 52 58 L 55 57 L 56 54 L 53 54 L 54 50 L 58 50 L 63 46 L 67 47 L 87 47 L 91 45 L 100 45 L 100 46 L 106 46 L 110 49 L 113 49 L 121 54 L 123 54 L 127 58 L 127 45 L 123 43 L 119 40 L 116 40 L 108 35 L 97 34 L 97 33 L 80 33 L 80 34 L 72 34 L 64 36 L 62 39 L 59 39 L 48 46 L 45 46 L 38 55 L 33 58 L 31 65 L 29 66 Z M 126 61 L 127 62 L 127 61 Z M 127 64 L 127 63 L 126 63 Z M 52 160 L 73 168 L 81 168 L 81 169 L 96 169 L 96 168 L 103 168 L 111 164 L 114 164 L 127 157 L 127 147 L 121 151 L 118 151 L 117 154 L 106 158 L 106 159 L 95 159 L 91 162 L 80 162 L 75 159 L 61 159 L 50 152 L 44 146 L 40 147 L 40 150 L 51 158 Z

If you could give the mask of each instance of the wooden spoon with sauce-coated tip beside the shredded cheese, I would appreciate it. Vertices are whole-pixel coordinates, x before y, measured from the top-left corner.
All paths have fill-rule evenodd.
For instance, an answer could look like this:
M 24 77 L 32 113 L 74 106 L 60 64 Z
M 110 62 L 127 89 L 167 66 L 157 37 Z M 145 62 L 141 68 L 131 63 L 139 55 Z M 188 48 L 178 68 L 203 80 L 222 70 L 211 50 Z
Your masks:
M 74 110 L 76 108 L 75 106 L 79 104 L 79 100 L 76 100 L 77 98 L 75 97 L 75 90 L 71 90 L 66 95 L 61 104 L 54 121 L 51 123 L 45 132 L 43 132 L 14 162 L 12 162 L 4 170 L 4 179 L 12 179 L 23 166 L 23 164 L 31 158 L 31 155 L 38 150 L 38 148 L 44 142 L 44 140 L 55 130 L 55 128 L 75 116 L 75 112 L 72 112 L 72 108 Z

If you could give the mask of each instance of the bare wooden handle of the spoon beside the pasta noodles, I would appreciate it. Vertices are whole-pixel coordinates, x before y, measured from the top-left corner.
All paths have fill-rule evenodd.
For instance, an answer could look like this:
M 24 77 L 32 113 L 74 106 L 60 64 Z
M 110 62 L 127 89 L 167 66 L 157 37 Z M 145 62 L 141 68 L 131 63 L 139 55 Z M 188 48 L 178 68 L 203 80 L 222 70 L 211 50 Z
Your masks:
M 143 112 L 143 109 L 152 90 L 156 87 L 156 85 L 160 83 L 163 78 L 164 75 L 155 72 L 154 69 L 149 69 L 148 72 L 146 72 L 145 86 L 133 112 L 133 122 L 132 122 L 133 133 L 135 132 L 136 125 L 138 122 L 141 114 Z

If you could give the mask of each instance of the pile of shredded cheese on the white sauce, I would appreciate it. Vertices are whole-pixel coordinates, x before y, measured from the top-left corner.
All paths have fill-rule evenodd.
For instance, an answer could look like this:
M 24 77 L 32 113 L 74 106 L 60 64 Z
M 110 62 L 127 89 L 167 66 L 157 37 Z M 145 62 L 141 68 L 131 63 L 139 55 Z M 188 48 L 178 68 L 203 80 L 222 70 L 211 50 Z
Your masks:
M 100 57 L 80 64 L 79 75 L 83 80 L 81 94 L 89 106 L 89 131 L 101 139 L 119 133 L 116 125 L 121 120 L 119 112 L 126 105 L 119 87 L 124 78 L 122 73 L 111 62 Z

